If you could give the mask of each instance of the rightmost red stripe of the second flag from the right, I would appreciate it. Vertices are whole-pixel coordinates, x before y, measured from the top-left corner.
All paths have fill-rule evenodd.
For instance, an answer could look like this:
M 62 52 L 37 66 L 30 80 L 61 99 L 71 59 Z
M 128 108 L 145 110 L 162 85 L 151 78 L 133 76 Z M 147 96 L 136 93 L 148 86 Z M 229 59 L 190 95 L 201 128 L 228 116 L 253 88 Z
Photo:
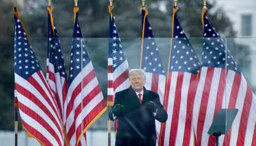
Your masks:
M 185 123 L 184 137 L 183 137 L 183 146 L 189 145 L 190 138 L 191 138 L 190 134 L 191 134 L 191 125 L 192 125 L 192 115 L 193 115 L 195 93 L 197 91 L 198 81 L 199 79 L 197 78 L 197 75 L 191 74 L 189 91 L 187 94 L 186 123 Z

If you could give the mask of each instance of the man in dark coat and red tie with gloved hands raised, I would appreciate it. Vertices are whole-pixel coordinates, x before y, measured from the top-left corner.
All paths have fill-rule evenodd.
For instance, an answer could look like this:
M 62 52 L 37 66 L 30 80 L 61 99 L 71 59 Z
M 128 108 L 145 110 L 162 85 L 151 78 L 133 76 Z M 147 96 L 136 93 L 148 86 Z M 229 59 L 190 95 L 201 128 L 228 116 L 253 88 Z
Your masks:
M 110 119 L 118 119 L 116 146 L 156 145 L 155 119 L 167 120 L 167 113 L 160 103 L 159 95 L 144 88 L 143 69 L 131 69 L 130 88 L 115 94 Z

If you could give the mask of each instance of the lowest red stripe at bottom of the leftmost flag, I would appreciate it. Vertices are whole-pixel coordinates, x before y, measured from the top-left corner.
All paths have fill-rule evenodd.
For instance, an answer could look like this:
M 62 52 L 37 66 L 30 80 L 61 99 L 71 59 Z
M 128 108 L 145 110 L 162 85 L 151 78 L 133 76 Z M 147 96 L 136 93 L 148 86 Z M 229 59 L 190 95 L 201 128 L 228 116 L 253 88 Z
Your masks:
M 36 137 L 36 139 L 40 139 L 40 142 L 42 142 L 45 145 L 52 145 L 51 142 L 48 141 L 48 139 L 45 136 L 43 136 L 42 133 L 40 133 L 40 131 L 37 131 L 35 128 L 28 125 L 28 123 L 26 123 L 24 120 L 21 119 L 21 121 L 23 127 L 29 132 L 29 134 L 32 134 L 32 136 Z

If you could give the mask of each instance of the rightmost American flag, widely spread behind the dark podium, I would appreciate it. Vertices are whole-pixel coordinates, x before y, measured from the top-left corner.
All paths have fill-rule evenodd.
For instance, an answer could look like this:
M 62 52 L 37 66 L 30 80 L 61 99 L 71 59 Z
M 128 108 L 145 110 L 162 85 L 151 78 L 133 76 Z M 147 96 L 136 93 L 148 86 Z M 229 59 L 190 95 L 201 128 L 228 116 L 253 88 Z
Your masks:
M 219 145 L 256 145 L 255 96 L 206 13 L 203 20 L 202 68 L 193 114 L 198 145 L 216 144 L 207 132 L 220 108 L 237 108 L 238 114 L 228 133 L 219 137 Z

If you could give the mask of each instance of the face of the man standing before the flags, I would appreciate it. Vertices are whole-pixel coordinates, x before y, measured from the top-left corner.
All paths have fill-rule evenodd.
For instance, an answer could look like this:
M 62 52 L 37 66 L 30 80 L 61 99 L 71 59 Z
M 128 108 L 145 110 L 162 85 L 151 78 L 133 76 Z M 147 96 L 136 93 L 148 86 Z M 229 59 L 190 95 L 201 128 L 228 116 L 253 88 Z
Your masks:
M 136 92 L 141 92 L 146 81 L 143 74 L 130 74 L 130 85 Z

